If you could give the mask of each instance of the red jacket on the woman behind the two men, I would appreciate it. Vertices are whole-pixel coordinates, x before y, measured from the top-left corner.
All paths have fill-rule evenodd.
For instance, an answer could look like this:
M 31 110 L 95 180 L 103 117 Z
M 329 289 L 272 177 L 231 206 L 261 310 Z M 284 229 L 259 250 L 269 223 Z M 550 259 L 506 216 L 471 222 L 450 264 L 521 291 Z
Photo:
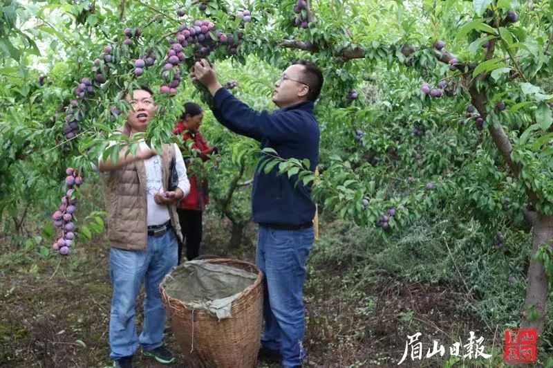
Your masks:
M 187 128 L 182 122 L 177 123 L 177 127 L 173 129 L 173 134 L 182 134 L 182 140 L 185 141 L 186 147 L 188 147 L 189 144 L 187 140 L 193 140 L 194 143 L 192 143 L 192 149 L 198 151 L 198 157 L 200 157 L 203 161 L 208 160 L 209 156 L 207 155 L 212 154 L 214 151 L 214 149 L 209 148 L 207 142 L 199 131 L 196 133 L 187 131 Z M 196 211 L 205 210 L 205 205 L 209 203 L 209 196 L 207 195 L 207 181 L 204 180 L 198 184 L 198 179 L 194 175 L 189 176 L 188 180 L 190 181 L 190 192 L 185 199 L 180 201 L 180 208 Z

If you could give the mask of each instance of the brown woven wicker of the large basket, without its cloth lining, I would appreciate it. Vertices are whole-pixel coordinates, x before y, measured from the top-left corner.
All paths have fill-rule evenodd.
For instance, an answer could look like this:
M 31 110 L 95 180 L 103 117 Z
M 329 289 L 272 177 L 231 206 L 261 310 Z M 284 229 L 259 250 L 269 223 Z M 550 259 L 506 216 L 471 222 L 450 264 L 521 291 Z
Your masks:
M 263 324 L 263 274 L 237 259 L 206 259 L 212 264 L 241 268 L 257 276 L 254 284 L 232 302 L 232 318 L 219 321 L 203 309 L 191 309 L 160 285 L 171 329 L 191 367 L 249 368 L 257 365 Z

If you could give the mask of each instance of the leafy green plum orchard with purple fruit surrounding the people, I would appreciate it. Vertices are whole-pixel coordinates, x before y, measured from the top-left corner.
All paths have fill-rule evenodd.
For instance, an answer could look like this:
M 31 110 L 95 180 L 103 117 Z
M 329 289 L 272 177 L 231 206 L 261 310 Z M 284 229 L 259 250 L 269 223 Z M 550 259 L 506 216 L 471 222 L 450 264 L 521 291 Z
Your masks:
M 384 243 L 428 217 L 477 221 L 482 252 L 516 270 L 510 284 L 525 280 L 513 322 L 550 327 L 553 1 L 8 0 L 0 20 L 0 214 L 3 231 L 27 239 L 25 255 L 74 257 L 102 234 L 102 209 L 82 201 L 97 158 L 135 153 L 144 138 L 182 145 L 171 129 L 196 100 L 219 154 L 203 163 L 182 148 L 209 179 L 209 210 L 232 228 L 229 249 L 251 221 L 254 172 L 278 170 L 312 185 L 322 216 Z M 218 125 L 188 77 L 201 58 L 256 109 L 274 108 L 292 60 L 319 64 L 319 174 Z M 141 85 L 156 119 L 145 134 L 112 136 Z M 514 248 L 516 232 L 531 243 Z

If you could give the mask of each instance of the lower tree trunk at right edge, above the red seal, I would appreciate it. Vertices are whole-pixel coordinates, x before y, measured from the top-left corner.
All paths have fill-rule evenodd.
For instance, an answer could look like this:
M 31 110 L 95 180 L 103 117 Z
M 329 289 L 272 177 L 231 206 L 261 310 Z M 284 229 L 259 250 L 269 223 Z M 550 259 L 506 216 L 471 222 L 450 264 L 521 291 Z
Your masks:
M 553 239 L 553 217 L 545 214 L 537 214 L 534 222 L 534 236 L 532 239 L 532 259 L 528 269 L 528 288 L 526 291 L 526 300 L 524 302 L 523 323 L 522 326 L 528 329 L 536 329 L 538 335 L 541 335 L 545 324 L 545 311 L 547 306 L 547 293 L 549 291 L 549 279 L 543 270 L 541 261 L 534 260 L 534 255 L 538 247 L 543 243 L 551 243 Z M 536 307 L 538 318 L 529 321 L 528 317 L 532 311 L 532 306 Z

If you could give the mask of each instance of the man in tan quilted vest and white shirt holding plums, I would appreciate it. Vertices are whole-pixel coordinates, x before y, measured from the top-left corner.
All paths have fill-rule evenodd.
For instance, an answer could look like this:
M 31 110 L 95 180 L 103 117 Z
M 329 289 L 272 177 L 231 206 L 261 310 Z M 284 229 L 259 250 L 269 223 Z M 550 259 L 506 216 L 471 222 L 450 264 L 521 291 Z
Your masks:
M 127 95 L 131 111 L 122 134 L 146 131 L 157 106 L 147 87 Z M 162 279 L 177 264 L 180 224 L 174 203 L 190 190 L 186 167 L 177 145 L 162 145 L 162 154 L 140 142 L 133 156 L 122 149 L 117 162 L 99 160 L 104 179 L 111 245 L 109 275 L 113 284 L 109 322 L 110 357 L 115 367 L 132 367 L 132 358 L 142 345 L 144 355 L 161 363 L 174 356 L 163 345 L 165 308 L 159 291 Z M 178 187 L 167 192 L 169 163 L 176 158 Z M 163 196 L 162 194 L 167 194 Z M 138 337 L 135 329 L 136 298 L 144 282 L 144 326 Z

